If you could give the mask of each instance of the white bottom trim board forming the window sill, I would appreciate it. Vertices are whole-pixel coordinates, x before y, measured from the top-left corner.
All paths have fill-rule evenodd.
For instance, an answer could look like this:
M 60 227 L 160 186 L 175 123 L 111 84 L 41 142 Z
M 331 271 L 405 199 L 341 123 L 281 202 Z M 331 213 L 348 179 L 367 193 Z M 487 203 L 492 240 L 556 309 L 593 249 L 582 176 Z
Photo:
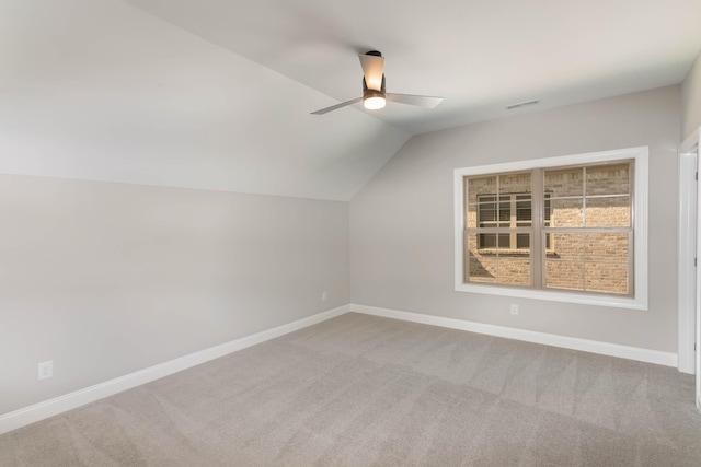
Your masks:
M 475 283 L 456 283 L 457 292 L 484 293 L 489 295 L 514 296 L 519 299 L 545 300 L 549 302 L 579 303 L 584 305 L 611 306 L 617 308 L 647 310 L 647 297 L 587 294 L 555 290 L 535 290 Z

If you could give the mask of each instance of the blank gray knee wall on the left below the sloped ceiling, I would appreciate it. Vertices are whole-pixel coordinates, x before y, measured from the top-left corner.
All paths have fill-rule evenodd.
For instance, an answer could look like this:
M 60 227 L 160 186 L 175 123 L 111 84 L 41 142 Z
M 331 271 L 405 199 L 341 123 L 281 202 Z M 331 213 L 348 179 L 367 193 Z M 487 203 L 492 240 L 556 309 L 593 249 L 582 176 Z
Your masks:
M 347 202 L 0 175 L 0 415 L 349 302 Z

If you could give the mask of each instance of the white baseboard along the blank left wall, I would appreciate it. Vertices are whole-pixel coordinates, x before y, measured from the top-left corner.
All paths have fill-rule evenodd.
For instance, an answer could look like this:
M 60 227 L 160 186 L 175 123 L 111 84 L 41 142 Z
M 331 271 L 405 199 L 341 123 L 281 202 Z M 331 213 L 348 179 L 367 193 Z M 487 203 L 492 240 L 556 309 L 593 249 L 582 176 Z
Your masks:
M 341 316 L 349 311 L 349 305 L 340 306 L 337 308 L 329 310 L 326 312 L 322 312 L 307 318 L 298 319 L 296 322 L 275 327 L 273 329 L 266 329 L 264 331 L 242 337 L 240 339 L 235 339 L 220 346 L 210 347 L 209 349 L 200 350 L 198 352 L 191 353 L 179 359 L 169 360 L 168 362 L 160 363 L 158 365 L 150 366 L 148 369 L 143 369 L 124 376 L 119 376 L 114 380 L 96 384 L 94 386 L 85 387 L 84 389 L 79 389 L 64 396 L 59 396 L 49 400 L 45 400 L 43 402 L 35 404 L 33 406 L 24 407 L 15 411 L 4 413 L 0 416 L 0 434 L 16 430 L 19 428 L 37 422 L 39 420 L 47 419 L 49 417 L 57 416 L 67 410 L 84 406 L 85 404 L 90 404 L 94 400 L 103 399 L 114 394 L 122 393 L 123 390 L 131 389 L 133 387 L 150 383 L 173 373 L 177 373 L 192 366 L 208 362 L 209 360 L 218 359 L 220 357 L 237 352 L 248 347 L 275 339 L 277 337 L 306 328 L 308 326 L 315 325 L 336 316 Z

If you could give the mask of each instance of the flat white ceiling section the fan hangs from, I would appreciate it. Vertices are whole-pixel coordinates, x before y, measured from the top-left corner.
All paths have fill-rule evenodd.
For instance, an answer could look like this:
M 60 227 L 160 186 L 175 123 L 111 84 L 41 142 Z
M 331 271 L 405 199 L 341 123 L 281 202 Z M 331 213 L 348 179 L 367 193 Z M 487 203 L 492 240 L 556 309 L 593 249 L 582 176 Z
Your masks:
M 356 54 L 380 50 L 388 91 L 446 97 L 436 109 L 374 114 L 412 133 L 506 116 L 525 101 L 545 108 L 676 84 L 701 48 L 699 0 L 126 1 L 329 105 L 360 96 Z

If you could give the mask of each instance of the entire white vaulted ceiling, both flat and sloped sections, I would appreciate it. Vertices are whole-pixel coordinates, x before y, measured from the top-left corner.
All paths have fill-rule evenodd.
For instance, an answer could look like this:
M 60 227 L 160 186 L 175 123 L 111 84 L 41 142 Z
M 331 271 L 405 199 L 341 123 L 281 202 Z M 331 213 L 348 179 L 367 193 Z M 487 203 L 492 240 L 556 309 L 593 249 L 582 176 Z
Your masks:
M 0 0 L 0 172 L 347 200 L 412 135 L 679 83 L 699 17 L 698 0 Z M 388 91 L 445 102 L 309 115 L 360 95 L 370 49 Z

